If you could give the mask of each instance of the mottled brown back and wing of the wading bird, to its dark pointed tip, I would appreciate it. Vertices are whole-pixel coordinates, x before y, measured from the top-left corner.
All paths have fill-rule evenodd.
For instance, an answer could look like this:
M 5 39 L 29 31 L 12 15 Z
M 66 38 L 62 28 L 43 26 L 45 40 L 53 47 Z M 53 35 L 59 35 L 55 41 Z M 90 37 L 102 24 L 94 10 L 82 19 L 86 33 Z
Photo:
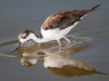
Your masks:
M 70 27 L 75 22 L 81 21 L 81 17 L 87 13 L 94 11 L 99 5 L 92 8 L 90 10 L 74 10 L 74 11 L 60 11 L 55 14 L 51 14 L 41 25 L 41 28 L 45 30 L 60 28 L 64 29 Z

